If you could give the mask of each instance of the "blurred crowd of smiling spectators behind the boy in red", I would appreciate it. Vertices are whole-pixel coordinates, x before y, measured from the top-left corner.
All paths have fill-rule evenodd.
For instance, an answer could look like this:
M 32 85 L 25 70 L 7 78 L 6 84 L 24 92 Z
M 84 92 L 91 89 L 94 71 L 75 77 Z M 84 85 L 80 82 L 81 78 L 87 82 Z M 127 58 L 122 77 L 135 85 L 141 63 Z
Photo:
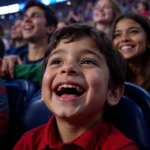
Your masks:
M 61 3 L 40 7 L 42 10 L 29 3 L 16 19 L 0 20 L 0 58 L 3 61 L 0 75 L 5 81 L 29 79 L 40 89 L 41 67 L 51 36 L 70 24 L 84 23 L 104 31 L 115 50 L 122 53 L 127 63 L 126 81 L 150 92 L 148 1 L 74 0 L 69 6 Z M 5 108 L 4 114 L 7 114 L 8 107 Z

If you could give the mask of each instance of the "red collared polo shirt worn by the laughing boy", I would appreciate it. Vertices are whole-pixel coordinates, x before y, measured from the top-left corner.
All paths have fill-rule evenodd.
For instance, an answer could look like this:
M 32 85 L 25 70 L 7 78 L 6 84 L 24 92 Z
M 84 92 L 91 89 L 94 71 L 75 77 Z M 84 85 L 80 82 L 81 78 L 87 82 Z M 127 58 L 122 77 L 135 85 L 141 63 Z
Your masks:
M 137 150 L 129 140 L 111 124 L 99 120 L 71 142 L 61 144 L 57 140 L 55 117 L 46 125 L 25 133 L 14 150 Z

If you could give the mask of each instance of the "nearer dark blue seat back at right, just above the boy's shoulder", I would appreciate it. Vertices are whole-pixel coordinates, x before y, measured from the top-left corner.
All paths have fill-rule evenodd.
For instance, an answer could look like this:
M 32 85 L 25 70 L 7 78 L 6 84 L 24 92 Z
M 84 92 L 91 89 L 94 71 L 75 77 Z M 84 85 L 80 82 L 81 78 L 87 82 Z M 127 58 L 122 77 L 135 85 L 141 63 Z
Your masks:
M 141 150 L 150 149 L 150 136 L 143 112 L 133 100 L 123 96 L 117 106 L 106 109 L 105 118 L 135 141 Z

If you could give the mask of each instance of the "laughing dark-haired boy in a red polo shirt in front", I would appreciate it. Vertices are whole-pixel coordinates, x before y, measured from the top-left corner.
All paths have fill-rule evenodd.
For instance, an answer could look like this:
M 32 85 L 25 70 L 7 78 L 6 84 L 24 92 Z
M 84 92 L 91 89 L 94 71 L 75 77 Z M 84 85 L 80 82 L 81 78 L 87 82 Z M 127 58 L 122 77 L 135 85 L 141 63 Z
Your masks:
M 14 150 L 137 150 L 103 119 L 104 107 L 119 102 L 125 76 L 124 59 L 105 33 L 80 24 L 56 31 L 43 72 L 42 100 L 54 116 Z

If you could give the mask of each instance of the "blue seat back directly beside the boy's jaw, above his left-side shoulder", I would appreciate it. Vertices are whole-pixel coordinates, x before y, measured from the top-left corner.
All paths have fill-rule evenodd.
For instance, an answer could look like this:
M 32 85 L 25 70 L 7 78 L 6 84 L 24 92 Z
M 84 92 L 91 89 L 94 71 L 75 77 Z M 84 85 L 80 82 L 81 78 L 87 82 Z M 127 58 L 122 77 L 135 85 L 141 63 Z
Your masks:
M 45 103 L 41 101 L 41 96 L 37 95 L 30 101 L 23 115 L 23 131 L 31 130 L 48 122 L 52 113 Z

